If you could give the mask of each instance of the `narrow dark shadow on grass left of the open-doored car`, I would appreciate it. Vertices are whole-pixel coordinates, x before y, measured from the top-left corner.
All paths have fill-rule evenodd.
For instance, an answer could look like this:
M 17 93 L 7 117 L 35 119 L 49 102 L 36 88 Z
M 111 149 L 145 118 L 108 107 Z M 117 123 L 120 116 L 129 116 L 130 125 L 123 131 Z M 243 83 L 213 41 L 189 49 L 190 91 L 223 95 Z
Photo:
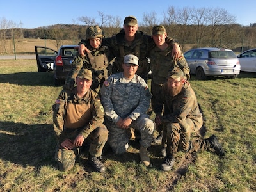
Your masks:
M 0 83 L 10 83 L 27 86 L 53 86 L 52 72 L 18 72 L 14 74 L 1 74 Z

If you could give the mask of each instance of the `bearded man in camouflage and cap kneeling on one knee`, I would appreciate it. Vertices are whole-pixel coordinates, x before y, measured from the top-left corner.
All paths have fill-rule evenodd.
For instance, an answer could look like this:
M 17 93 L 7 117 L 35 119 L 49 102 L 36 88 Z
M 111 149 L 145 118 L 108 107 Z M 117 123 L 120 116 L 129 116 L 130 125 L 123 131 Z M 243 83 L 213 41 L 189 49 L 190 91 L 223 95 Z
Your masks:
M 161 115 L 164 103 L 164 115 Z M 220 156 L 224 155 L 218 138 L 212 135 L 208 139 L 190 140 L 191 132 L 202 127 L 203 120 L 200 113 L 195 92 L 186 83 L 184 72 L 175 67 L 168 74 L 168 81 L 163 92 L 156 98 L 156 124 L 164 124 L 163 131 L 167 136 L 166 157 L 161 169 L 169 171 L 175 161 L 178 150 L 193 152 L 210 150 L 213 148 Z

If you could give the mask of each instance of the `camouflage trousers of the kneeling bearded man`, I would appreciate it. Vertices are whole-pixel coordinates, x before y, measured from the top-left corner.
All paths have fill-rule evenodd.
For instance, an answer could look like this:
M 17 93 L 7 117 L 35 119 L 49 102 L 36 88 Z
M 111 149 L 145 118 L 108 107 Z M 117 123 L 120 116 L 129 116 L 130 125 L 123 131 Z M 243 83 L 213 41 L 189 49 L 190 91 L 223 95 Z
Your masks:
M 189 130 L 181 131 L 178 123 L 167 123 L 163 125 L 163 141 L 167 140 L 166 156 L 175 156 L 175 154 L 182 150 L 184 152 L 198 152 L 199 150 L 209 150 L 211 143 L 205 139 L 196 139 L 190 141 L 191 133 L 196 132 L 200 127 L 195 125 L 192 120 L 187 119 Z M 162 145 L 166 145 L 162 142 Z

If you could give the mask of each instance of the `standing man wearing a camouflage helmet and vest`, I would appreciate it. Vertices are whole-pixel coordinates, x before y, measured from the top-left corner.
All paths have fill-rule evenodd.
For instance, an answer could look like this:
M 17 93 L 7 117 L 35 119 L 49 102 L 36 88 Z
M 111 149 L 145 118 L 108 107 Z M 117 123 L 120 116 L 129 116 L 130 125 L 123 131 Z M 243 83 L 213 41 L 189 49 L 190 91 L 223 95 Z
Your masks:
M 109 61 L 113 60 L 107 46 L 102 45 L 102 30 L 99 26 L 90 26 L 86 29 L 86 44 L 90 52 L 86 52 L 84 56 L 77 56 L 72 62 L 72 70 L 70 70 L 65 85 L 65 90 L 72 90 L 75 84 L 75 79 L 81 68 L 88 68 L 92 70 L 93 83 L 92 90 L 99 93 L 102 83 L 111 74 L 111 64 Z

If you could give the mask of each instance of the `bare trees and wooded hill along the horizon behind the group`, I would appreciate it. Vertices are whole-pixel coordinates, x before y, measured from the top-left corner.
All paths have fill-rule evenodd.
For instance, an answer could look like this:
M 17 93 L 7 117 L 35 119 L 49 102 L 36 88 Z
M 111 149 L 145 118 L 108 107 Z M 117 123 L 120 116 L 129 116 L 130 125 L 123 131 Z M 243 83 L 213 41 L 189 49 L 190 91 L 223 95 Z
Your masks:
M 45 38 L 54 40 L 56 48 L 63 40 L 72 40 L 77 44 L 85 38 L 86 29 L 90 25 L 99 25 L 104 36 L 109 37 L 122 29 L 123 20 L 119 16 L 113 17 L 98 12 L 99 17 L 83 16 L 78 18 L 83 24 L 56 24 L 35 29 L 22 29 L 5 18 L 0 20 L 1 52 L 4 52 L 4 43 L 10 38 Z M 236 24 L 236 17 L 223 8 L 181 8 L 173 6 L 167 8 L 161 19 L 156 12 L 143 13 L 139 21 L 139 30 L 151 35 L 152 27 L 163 24 L 168 36 L 177 39 L 182 51 L 188 47 L 256 47 L 256 23 L 250 26 Z M 188 46 L 189 45 L 189 46 Z M 242 48 L 243 50 L 243 48 Z

